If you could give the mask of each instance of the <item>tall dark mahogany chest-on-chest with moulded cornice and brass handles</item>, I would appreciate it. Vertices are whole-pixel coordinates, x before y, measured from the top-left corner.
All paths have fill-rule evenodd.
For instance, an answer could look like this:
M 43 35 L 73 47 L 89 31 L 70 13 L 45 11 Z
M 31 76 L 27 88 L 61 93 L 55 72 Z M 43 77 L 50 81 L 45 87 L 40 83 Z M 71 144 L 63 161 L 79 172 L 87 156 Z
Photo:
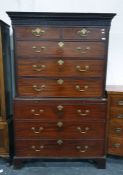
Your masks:
M 15 46 L 15 166 L 86 158 L 105 167 L 105 78 L 115 14 L 8 12 Z

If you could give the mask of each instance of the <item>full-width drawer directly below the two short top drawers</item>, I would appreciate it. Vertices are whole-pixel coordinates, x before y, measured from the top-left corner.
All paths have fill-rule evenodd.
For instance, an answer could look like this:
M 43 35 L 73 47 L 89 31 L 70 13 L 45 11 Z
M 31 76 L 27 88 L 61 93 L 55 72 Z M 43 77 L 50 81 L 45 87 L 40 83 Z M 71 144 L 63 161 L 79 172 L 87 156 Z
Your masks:
M 91 57 L 104 58 L 104 42 L 49 42 L 18 41 L 16 55 L 19 57 Z

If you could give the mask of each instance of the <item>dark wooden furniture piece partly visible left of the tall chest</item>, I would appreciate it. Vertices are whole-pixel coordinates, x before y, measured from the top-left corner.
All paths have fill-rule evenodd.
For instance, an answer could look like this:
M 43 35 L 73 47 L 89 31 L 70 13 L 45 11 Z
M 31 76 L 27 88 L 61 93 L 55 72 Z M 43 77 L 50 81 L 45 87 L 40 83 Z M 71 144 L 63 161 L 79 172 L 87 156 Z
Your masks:
M 9 157 L 10 58 L 9 25 L 0 20 L 0 157 Z

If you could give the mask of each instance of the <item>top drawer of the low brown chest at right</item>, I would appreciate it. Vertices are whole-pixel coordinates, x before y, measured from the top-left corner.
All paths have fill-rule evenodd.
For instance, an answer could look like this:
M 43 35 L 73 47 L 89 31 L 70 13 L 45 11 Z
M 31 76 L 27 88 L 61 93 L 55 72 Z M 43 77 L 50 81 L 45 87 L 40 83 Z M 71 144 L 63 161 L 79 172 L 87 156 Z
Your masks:
M 111 107 L 117 107 L 117 109 L 123 109 L 123 95 L 111 95 L 110 96 Z

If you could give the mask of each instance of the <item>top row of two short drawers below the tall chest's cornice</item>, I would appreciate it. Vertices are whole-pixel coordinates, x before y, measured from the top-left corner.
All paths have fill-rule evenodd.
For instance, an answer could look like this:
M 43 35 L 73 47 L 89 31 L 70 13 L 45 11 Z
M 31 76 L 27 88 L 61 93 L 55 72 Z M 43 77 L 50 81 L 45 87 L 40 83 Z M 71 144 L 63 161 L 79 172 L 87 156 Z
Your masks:
M 54 26 L 24 26 L 15 27 L 16 39 L 41 40 L 41 39 L 79 39 L 102 40 L 108 33 L 104 27 L 54 27 Z

